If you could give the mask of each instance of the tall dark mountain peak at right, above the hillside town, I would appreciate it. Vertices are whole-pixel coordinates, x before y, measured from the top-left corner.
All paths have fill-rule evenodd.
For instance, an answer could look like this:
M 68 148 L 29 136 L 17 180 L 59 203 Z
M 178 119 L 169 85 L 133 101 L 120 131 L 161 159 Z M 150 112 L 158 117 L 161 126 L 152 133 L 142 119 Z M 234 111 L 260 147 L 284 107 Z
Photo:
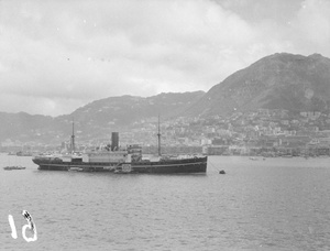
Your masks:
M 319 54 L 266 56 L 213 86 L 186 114 L 227 114 L 260 108 L 328 112 L 330 59 Z

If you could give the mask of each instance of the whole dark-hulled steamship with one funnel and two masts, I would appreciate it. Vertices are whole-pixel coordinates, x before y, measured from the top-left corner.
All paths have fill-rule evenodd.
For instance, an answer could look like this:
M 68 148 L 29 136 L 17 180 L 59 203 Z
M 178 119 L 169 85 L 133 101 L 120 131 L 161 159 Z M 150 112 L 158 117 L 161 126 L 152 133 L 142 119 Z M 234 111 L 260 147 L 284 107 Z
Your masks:
M 206 173 L 207 156 L 204 155 L 162 155 L 161 133 L 158 127 L 158 155 L 143 156 L 138 144 L 119 148 L 119 133 L 112 132 L 111 145 L 96 151 L 70 154 L 41 154 L 33 162 L 38 170 L 79 171 L 79 172 L 113 172 L 116 174 L 147 173 Z M 75 149 L 73 126 L 72 146 Z

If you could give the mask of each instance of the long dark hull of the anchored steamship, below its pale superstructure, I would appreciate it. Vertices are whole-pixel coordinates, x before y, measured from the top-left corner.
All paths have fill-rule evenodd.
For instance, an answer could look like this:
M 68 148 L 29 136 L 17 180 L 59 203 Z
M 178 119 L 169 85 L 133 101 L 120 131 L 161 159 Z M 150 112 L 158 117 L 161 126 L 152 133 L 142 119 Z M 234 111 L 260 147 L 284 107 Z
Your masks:
M 144 174 L 172 174 L 172 173 L 206 173 L 207 156 L 185 160 L 167 160 L 160 162 L 140 163 L 75 163 L 56 160 L 34 159 L 38 170 L 72 171 L 79 168 L 84 172 L 114 172 L 114 173 L 144 173 Z

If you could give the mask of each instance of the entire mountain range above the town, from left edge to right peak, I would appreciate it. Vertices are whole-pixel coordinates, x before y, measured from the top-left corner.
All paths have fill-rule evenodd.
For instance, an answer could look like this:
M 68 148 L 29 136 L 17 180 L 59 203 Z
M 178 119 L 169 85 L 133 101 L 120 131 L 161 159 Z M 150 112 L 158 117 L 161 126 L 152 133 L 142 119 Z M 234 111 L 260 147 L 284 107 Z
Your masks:
M 58 144 L 72 134 L 73 120 L 79 140 L 88 141 L 109 138 L 111 131 L 140 129 L 145 122 L 156 122 L 158 114 L 164 121 L 260 108 L 329 112 L 330 59 L 319 54 L 279 53 L 238 70 L 207 94 L 110 97 L 55 118 L 0 112 L 0 142 Z

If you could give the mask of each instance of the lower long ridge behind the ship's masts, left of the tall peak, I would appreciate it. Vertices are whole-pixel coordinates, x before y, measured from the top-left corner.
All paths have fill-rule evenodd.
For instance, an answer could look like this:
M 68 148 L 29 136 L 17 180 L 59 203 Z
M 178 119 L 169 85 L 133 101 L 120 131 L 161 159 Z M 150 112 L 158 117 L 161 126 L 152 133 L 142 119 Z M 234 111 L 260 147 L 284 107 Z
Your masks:
M 160 94 L 147 98 L 136 96 L 110 97 L 58 117 L 62 124 L 75 120 L 77 130 L 87 138 L 99 138 L 110 131 L 122 131 L 144 121 L 175 118 L 205 95 L 204 91 Z M 69 127 L 70 128 L 70 127 Z

